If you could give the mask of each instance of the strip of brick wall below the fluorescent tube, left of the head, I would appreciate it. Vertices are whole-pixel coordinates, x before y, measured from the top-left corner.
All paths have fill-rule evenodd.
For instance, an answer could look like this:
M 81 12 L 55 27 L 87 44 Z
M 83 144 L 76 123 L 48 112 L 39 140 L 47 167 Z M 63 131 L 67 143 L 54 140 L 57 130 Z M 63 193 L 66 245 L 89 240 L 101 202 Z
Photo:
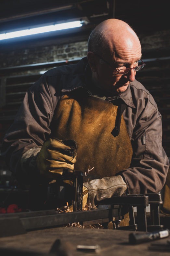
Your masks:
M 26 48 L 0 53 L 1 66 L 11 67 L 34 63 L 68 60 L 84 57 L 87 54 L 87 41 L 44 47 Z

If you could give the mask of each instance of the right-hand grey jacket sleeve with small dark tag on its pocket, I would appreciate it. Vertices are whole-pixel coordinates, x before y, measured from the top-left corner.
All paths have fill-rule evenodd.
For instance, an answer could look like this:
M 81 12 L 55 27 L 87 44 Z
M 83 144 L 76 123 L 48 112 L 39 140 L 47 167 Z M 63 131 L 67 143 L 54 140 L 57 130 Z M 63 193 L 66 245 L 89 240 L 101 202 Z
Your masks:
M 122 175 L 129 194 L 158 193 L 163 188 L 169 167 L 162 147 L 161 114 L 153 97 L 146 92 L 143 95 L 143 100 L 138 98 L 136 114 L 132 110 L 131 116 L 126 117 L 127 123 L 127 119 L 134 122 L 133 129 L 127 125 L 128 130 L 132 130 L 131 166 L 117 174 Z

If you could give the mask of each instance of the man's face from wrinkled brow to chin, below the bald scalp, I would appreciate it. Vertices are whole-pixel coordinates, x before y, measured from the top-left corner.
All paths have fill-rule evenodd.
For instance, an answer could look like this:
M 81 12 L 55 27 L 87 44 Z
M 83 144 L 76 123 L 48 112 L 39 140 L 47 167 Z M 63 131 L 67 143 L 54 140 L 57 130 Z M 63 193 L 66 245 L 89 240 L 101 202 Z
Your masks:
M 92 72 L 94 82 L 104 91 L 116 95 L 124 92 L 129 83 L 135 80 L 136 75 L 136 71 L 133 69 L 123 75 L 116 74 L 116 70 L 136 67 L 138 60 L 141 59 L 141 47 L 138 45 L 138 47 L 130 51 L 128 49 L 120 50 L 118 54 L 114 56 L 114 60 L 111 55 L 106 56 L 106 59 L 103 57 L 103 60 L 97 55 L 95 55 L 94 58 L 96 63 L 95 72 Z

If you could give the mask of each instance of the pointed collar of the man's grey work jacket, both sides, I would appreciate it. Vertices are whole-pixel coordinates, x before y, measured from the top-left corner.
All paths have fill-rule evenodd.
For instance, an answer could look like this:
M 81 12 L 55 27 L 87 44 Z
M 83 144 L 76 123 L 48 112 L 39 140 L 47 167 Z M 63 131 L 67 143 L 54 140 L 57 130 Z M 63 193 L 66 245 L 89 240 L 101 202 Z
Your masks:
M 86 91 L 89 91 L 89 81 L 91 80 L 89 65 L 87 57 L 82 58 L 77 64 L 74 65 L 72 73 L 67 80 L 65 87 L 61 90 L 64 92 L 71 92 L 75 89 L 84 88 Z M 87 84 L 88 83 L 88 84 Z M 124 101 L 124 103 L 132 108 L 136 108 L 130 89 L 130 84 L 124 92 L 119 94 L 119 97 Z

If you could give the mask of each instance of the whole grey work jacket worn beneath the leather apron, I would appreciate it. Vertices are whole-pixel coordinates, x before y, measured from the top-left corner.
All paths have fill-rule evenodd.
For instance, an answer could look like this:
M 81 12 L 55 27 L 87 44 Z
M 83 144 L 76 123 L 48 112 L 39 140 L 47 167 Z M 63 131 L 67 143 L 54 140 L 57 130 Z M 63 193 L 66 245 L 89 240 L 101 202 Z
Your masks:
M 60 97 L 65 91 L 86 87 L 86 66 L 85 57 L 77 64 L 54 68 L 28 89 L 2 146 L 2 155 L 18 179 L 26 175 L 20 165 L 23 153 L 34 147 L 41 148 L 50 137 L 50 123 Z M 137 80 L 119 96 L 127 105 L 123 116 L 133 157 L 130 168 L 118 175 L 123 177 L 130 194 L 158 193 L 165 183 L 169 167 L 162 147 L 161 114 L 149 91 Z M 36 168 L 29 168 L 27 175 L 28 172 L 34 177 Z

